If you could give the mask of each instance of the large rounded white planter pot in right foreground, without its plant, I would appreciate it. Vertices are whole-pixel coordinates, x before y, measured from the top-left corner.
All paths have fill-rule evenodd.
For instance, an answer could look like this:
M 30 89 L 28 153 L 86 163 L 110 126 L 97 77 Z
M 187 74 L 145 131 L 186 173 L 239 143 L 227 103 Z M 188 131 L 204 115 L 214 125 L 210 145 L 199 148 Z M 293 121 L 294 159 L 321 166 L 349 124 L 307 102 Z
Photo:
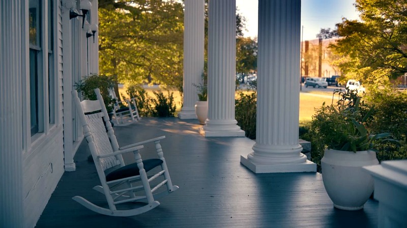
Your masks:
M 321 160 L 322 178 L 334 207 L 360 210 L 373 192 L 373 178 L 362 166 L 377 165 L 374 151 L 325 150 Z

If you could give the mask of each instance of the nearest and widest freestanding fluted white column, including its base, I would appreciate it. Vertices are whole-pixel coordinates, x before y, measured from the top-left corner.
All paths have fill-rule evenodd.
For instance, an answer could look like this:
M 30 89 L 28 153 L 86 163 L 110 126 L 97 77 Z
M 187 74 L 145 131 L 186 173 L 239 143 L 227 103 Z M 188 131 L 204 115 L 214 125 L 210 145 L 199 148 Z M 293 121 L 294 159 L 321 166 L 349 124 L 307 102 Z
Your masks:
M 255 173 L 316 172 L 299 144 L 300 0 L 258 1 Z

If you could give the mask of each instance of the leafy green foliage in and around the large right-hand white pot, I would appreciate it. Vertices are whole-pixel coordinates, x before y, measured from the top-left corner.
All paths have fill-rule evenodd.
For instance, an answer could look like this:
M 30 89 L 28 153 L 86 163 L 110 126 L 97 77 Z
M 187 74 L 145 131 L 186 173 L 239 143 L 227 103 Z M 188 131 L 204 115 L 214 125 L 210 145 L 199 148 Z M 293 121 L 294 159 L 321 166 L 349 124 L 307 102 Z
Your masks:
M 382 118 L 379 116 L 381 107 L 371 102 L 367 104 L 354 91 L 344 93 L 337 90 L 335 93 L 339 94 L 338 102 L 330 106 L 323 104 L 316 109 L 312 121 L 302 130 L 301 138 L 311 142 L 311 158 L 317 164 L 318 172 L 321 171 L 321 159 L 326 148 L 348 151 L 371 149 L 377 152 L 379 160 L 400 158 L 403 154 L 407 157 L 405 147 L 403 149 L 396 140 L 389 138 L 392 132 L 376 124 Z M 374 129 L 374 126 L 377 128 Z

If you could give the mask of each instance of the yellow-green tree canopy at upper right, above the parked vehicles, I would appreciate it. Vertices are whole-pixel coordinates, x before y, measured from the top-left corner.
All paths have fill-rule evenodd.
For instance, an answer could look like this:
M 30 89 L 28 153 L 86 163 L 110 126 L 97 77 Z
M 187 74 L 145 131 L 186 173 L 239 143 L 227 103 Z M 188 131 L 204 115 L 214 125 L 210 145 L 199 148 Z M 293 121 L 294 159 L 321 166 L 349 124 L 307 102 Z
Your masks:
M 343 37 L 332 50 L 342 57 L 341 71 L 377 83 L 407 72 L 407 4 L 405 0 L 356 0 L 361 21 L 342 19 Z

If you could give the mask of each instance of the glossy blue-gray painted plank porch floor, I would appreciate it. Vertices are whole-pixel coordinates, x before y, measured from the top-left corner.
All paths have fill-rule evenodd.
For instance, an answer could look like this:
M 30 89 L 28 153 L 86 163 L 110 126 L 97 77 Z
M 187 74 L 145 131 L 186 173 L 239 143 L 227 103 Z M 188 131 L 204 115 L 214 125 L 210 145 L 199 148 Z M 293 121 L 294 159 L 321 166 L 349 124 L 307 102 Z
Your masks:
M 90 154 L 82 142 L 76 171 L 65 172 L 36 227 L 376 227 L 378 203 L 359 211 L 335 209 L 319 173 L 254 174 L 240 164 L 251 152 L 247 138 L 204 138 L 197 120 L 143 118 L 114 127 L 119 145 L 165 135 L 162 148 L 172 183 L 180 189 L 157 208 L 133 217 L 99 215 L 71 198 L 103 205 Z M 142 151 L 154 155 L 154 146 Z M 131 154 L 125 157 L 132 161 Z

